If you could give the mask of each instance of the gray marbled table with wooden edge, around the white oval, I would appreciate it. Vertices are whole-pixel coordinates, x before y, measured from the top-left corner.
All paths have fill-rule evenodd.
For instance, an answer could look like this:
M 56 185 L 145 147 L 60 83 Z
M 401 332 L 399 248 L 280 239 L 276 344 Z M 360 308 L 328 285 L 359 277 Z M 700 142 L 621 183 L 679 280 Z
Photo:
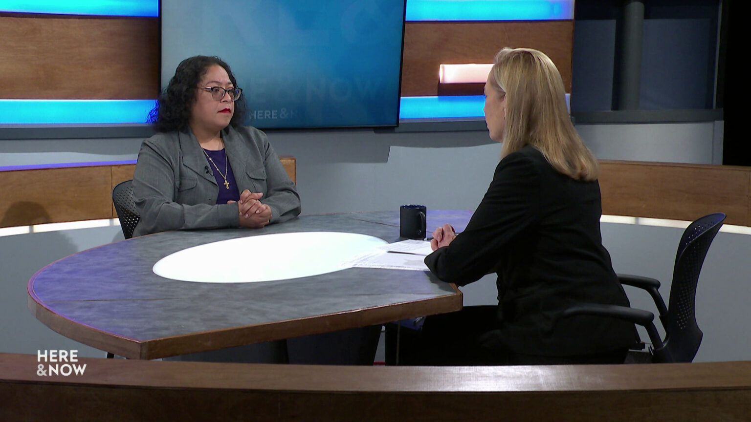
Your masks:
M 461 231 L 470 215 L 429 212 L 428 231 L 445 222 Z M 461 309 L 462 295 L 454 285 L 422 271 L 349 268 L 300 279 L 233 284 L 182 282 L 152 273 L 156 261 L 192 246 L 303 231 L 400 240 L 398 212 L 303 216 L 258 230 L 152 234 L 79 252 L 39 270 L 29 280 L 29 309 L 64 336 L 139 359 Z

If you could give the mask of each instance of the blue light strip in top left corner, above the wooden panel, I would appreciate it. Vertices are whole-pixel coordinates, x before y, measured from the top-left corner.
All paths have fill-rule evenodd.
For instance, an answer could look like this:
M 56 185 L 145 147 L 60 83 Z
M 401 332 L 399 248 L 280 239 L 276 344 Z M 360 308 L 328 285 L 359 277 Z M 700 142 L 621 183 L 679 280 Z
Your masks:
M 0 12 L 158 17 L 158 0 L 3 0 Z

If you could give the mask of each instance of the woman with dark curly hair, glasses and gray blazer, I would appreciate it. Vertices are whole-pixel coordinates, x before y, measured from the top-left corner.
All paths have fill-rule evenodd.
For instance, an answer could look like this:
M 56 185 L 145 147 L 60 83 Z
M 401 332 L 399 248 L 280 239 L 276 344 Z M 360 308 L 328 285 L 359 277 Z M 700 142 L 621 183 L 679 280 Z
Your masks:
M 243 126 L 243 90 L 219 57 L 177 66 L 149 121 L 133 176 L 133 235 L 285 222 L 300 197 L 266 134 Z

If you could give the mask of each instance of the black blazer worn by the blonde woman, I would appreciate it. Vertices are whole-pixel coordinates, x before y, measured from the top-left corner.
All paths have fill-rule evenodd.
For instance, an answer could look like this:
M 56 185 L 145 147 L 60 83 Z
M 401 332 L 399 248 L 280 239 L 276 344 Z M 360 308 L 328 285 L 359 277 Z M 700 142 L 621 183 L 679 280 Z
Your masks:
M 466 230 L 425 264 L 457 285 L 496 271 L 497 329 L 481 338 L 488 347 L 544 356 L 624 348 L 634 342 L 633 324 L 594 316 L 556 322 L 572 303 L 629 306 L 602 246 L 601 214 L 598 182 L 563 175 L 525 146 L 498 164 Z

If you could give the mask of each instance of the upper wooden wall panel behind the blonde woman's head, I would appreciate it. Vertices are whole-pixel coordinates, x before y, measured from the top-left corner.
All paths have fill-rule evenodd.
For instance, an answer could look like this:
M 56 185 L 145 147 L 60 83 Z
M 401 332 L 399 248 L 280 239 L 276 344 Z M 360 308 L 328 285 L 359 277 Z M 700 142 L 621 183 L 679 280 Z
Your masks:
M 408 22 L 402 95 L 437 95 L 442 63 L 492 63 L 502 47 L 529 47 L 550 56 L 571 92 L 574 21 Z

